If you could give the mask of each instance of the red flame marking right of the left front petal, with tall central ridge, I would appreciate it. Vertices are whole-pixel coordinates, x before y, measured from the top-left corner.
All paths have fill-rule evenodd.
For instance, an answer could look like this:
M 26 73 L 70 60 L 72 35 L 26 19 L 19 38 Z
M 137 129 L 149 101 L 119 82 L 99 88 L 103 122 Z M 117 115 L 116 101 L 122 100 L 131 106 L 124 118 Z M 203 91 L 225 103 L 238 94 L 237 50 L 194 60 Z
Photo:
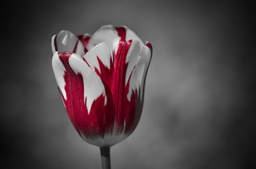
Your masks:
M 132 92 L 131 101 L 129 101 L 127 99 L 129 81 L 125 86 L 125 74 L 128 66 L 128 63 L 125 63 L 125 59 L 131 44 L 132 40 L 127 42 L 120 40 L 116 54 L 113 52 L 113 61 L 110 61 L 110 68 L 108 69 L 104 66 L 98 57 L 100 72 L 95 69 L 106 89 L 106 96 L 108 98 L 107 117 L 109 122 L 115 121 L 116 125 L 109 124 L 108 126 L 111 126 L 111 129 L 114 127 L 117 133 L 125 131 L 128 135 L 136 128 L 141 114 L 141 102 L 138 92 Z

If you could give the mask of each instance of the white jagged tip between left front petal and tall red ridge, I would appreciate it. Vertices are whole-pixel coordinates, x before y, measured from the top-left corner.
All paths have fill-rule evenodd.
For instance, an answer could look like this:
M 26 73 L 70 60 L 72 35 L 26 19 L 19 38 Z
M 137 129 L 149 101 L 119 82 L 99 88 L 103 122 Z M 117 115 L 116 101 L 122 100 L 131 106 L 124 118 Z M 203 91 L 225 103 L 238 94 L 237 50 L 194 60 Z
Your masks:
M 102 42 L 88 51 L 83 58 L 93 70 L 94 68 L 97 68 L 97 70 L 100 72 L 98 59 L 100 59 L 104 66 L 110 68 L 110 56 L 111 54 L 106 43 Z

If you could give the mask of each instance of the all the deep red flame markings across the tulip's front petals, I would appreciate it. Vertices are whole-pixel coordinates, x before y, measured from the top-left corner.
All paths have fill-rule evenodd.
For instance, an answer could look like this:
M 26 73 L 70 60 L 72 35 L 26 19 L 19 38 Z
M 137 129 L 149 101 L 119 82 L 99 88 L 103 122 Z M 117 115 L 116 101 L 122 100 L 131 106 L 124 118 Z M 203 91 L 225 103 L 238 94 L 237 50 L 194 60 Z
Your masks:
M 124 28 L 120 28 L 124 30 Z M 124 34 L 123 34 L 124 35 Z M 122 35 L 122 36 L 123 36 Z M 125 38 L 124 36 L 122 38 Z M 67 109 L 70 121 L 76 128 L 79 135 L 83 134 L 87 138 L 100 136 L 104 138 L 106 133 L 125 133 L 131 134 L 136 128 L 141 116 L 141 99 L 138 94 L 140 91 L 132 91 L 131 100 L 127 95 L 129 93 L 129 82 L 125 85 L 125 75 L 128 63 L 125 63 L 127 52 L 132 45 L 132 40 L 120 40 L 118 50 L 113 59 L 110 57 L 110 67 L 105 66 L 99 57 L 100 71 L 95 68 L 104 84 L 108 101 L 104 105 L 103 94 L 92 103 L 90 114 L 84 102 L 84 80 L 81 73 L 75 73 L 68 63 L 69 52 L 59 52 L 61 62 L 65 67 L 65 91 L 67 99 L 62 95 L 63 102 Z M 84 59 L 86 62 L 86 60 Z M 87 62 L 86 62 L 87 63 Z M 86 73 L 86 72 L 85 72 Z M 140 90 L 140 89 L 139 89 Z M 115 129 L 115 130 L 114 130 Z M 115 135 L 113 135 L 115 137 Z

